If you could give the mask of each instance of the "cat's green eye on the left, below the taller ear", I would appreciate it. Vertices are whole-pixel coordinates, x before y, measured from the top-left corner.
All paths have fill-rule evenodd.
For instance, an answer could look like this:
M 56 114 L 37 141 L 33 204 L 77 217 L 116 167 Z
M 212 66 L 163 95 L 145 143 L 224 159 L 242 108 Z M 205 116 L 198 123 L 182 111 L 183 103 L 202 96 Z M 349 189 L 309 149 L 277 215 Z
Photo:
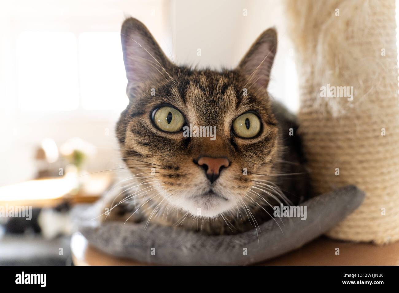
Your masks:
M 154 110 L 152 114 L 154 123 L 160 130 L 176 132 L 182 129 L 184 117 L 182 113 L 173 107 L 161 107 Z

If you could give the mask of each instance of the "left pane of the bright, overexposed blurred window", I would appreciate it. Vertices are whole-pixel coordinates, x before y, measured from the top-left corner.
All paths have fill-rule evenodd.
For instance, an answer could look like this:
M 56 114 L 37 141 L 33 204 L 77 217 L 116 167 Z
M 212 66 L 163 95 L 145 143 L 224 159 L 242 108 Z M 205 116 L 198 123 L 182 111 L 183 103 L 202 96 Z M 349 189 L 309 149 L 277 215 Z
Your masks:
M 79 106 L 73 33 L 25 31 L 17 39 L 16 57 L 21 110 L 75 110 Z

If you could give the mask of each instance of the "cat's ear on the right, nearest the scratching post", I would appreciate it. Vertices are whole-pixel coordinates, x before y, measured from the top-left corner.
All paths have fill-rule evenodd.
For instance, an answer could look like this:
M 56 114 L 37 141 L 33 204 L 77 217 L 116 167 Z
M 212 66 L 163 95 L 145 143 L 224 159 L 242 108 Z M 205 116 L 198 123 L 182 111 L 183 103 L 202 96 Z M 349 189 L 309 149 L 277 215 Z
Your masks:
M 270 28 L 264 31 L 241 59 L 238 69 L 247 75 L 247 87 L 267 88 L 270 70 L 277 51 L 277 32 Z

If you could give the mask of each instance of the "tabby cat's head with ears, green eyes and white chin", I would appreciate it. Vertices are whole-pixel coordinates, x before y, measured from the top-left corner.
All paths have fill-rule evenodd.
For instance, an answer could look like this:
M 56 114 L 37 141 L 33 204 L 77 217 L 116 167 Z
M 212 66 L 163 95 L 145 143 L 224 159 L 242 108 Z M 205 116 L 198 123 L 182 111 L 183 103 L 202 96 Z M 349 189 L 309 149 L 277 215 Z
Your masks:
M 252 200 L 253 173 L 267 173 L 278 156 L 265 90 L 276 42 L 265 31 L 237 69 L 198 71 L 170 63 L 137 20 L 124 22 L 130 103 L 117 135 L 144 201 L 214 217 Z

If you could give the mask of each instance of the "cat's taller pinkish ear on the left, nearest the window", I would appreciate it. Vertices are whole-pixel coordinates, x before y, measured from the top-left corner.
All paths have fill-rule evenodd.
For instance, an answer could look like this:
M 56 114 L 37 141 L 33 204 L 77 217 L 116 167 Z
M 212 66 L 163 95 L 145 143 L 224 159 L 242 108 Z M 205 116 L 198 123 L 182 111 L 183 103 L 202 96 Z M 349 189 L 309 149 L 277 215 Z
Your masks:
M 151 35 L 150 31 L 135 18 L 128 18 L 120 32 L 123 61 L 128 79 L 128 88 L 148 80 L 167 79 L 172 63 Z M 163 68 L 162 68 L 163 67 Z

